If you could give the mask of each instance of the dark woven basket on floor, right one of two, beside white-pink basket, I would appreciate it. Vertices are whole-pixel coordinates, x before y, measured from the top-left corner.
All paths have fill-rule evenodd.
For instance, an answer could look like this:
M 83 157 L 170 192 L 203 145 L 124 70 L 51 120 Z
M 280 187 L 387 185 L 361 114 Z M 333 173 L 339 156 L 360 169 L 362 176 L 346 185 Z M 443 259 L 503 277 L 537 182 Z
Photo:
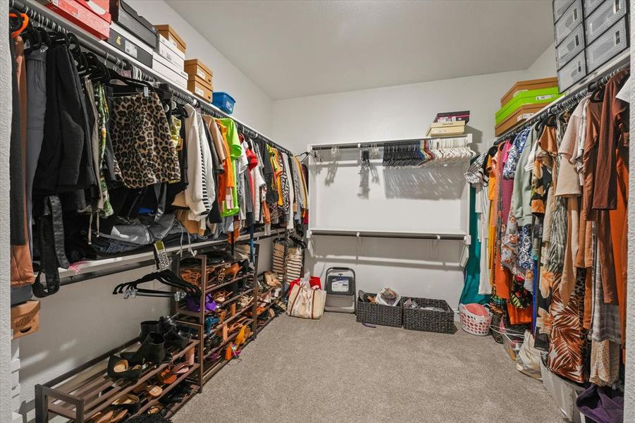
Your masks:
M 447 302 L 429 298 L 406 297 L 402 298 L 402 304 L 408 298 L 417 302 L 419 307 L 438 307 L 443 311 L 405 308 L 403 310 L 405 329 L 439 333 L 455 333 L 457 331 L 457 326 L 454 324 L 454 312 Z

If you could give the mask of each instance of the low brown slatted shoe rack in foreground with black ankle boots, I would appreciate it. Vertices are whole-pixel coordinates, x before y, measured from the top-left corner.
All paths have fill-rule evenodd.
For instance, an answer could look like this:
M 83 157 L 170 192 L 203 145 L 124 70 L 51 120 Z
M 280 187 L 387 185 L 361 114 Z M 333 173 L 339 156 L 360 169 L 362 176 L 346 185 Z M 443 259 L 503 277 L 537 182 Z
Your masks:
M 199 333 L 202 333 L 202 327 L 198 329 Z M 183 400 L 180 403 L 165 406 L 167 409 L 166 413 L 169 414 L 173 411 L 173 408 L 180 407 L 199 391 L 202 386 L 199 377 L 200 373 L 198 372 L 200 364 L 195 362 L 190 365 L 187 372 L 180 374 L 171 384 L 158 384 L 154 381 L 155 376 L 183 357 L 192 348 L 197 348 L 199 344 L 199 340 L 192 338 L 185 348 L 181 350 L 169 348 L 168 351 L 172 355 L 172 361 L 159 366 L 148 367 L 136 382 L 125 381 L 125 379 L 111 379 L 107 374 L 109 357 L 111 355 L 121 355 L 121 352 L 125 350 L 135 350 L 132 347 L 135 347 L 135 345 L 138 347 L 138 339 L 132 339 L 99 357 L 95 357 L 80 367 L 56 377 L 46 384 L 36 385 L 35 420 L 38 423 L 48 422 L 51 415 L 58 415 L 77 423 L 87 422 L 95 415 L 98 415 L 99 412 L 108 412 L 112 408 L 113 401 L 117 398 L 121 398 L 128 393 L 135 393 L 135 395 L 139 396 L 140 403 L 138 404 L 138 410 L 131 411 L 126 416 L 132 417 L 132 415 L 143 414 L 151 407 L 159 405 L 161 399 L 165 398 L 175 387 L 187 384 L 190 389 Z M 160 395 L 154 398 L 149 396 L 148 393 L 144 393 L 142 388 L 146 384 L 160 386 L 162 390 Z M 141 393 L 137 393 L 140 391 Z

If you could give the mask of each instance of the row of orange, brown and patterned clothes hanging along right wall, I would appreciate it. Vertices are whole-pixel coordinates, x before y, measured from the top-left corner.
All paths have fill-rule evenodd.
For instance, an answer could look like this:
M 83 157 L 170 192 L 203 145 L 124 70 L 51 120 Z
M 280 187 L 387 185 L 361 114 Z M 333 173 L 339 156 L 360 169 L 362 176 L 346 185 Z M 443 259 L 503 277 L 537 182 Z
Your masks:
M 478 294 L 579 384 L 614 386 L 624 359 L 629 104 L 616 96 L 628 77 L 612 71 L 550 107 L 466 173 Z

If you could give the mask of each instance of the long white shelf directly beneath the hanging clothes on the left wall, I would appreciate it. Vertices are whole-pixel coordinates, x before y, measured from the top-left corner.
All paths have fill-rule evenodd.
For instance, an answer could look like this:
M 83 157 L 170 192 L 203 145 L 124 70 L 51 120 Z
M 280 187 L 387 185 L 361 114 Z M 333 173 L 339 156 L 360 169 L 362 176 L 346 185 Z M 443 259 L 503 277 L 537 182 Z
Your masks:
M 275 231 L 271 231 L 269 235 L 264 232 L 254 233 L 254 241 L 259 240 L 260 238 L 270 238 L 271 236 L 277 236 L 283 234 L 285 231 L 283 229 L 278 229 Z M 240 235 L 236 238 L 235 242 L 249 240 L 249 234 Z M 197 250 L 199 248 L 211 247 L 214 245 L 223 245 L 227 244 L 226 238 L 218 238 L 216 240 L 202 241 L 200 243 L 192 243 L 192 250 Z M 174 247 L 166 247 L 166 252 L 168 255 L 173 255 L 181 250 L 183 253 L 187 253 L 189 244 L 185 243 L 183 246 L 177 245 Z M 118 271 L 125 271 L 126 266 L 130 266 L 132 264 L 139 264 L 144 262 L 152 262 L 154 260 L 154 251 L 145 251 L 137 254 L 123 255 L 120 257 L 109 257 L 107 259 L 99 259 L 99 260 L 90 260 L 87 262 L 80 262 L 78 264 L 74 264 L 69 269 L 59 269 L 60 278 L 70 278 L 73 280 L 75 276 L 84 276 L 87 274 L 92 274 L 94 272 L 101 272 L 104 270 L 113 270 L 111 273 L 116 273 Z M 124 269 L 121 269 L 124 268 Z M 105 276 L 105 275 L 104 275 Z M 97 277 L 97 276 L 94 276 Z M 62 283 L 64 285 L 64 283 Z

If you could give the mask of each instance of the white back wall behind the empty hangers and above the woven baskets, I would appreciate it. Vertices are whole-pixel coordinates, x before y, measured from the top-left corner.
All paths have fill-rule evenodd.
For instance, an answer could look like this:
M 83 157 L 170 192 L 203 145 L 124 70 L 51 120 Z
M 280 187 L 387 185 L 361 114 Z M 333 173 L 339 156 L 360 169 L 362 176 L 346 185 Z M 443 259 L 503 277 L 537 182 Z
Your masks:
M 275 101 L 273 137 L 294 152 L 304 151 L 307 145 L 317 143 L 416 138 L 426 134 L 436 113 L 469 110 L 468 131 L 474 137 L 473 148 L 483 152 L 495 139 L 494 115 L 500 108 L 500 97 L 517 80 L 549 76 L 555 76 L 553 46 L 526 71 Z M 323 152 L 323 155 L 328 158 L 330 152 Z M 430 182 L 430 178 L 425 178 L 430 171 L 422 169 L 405 176 L 420 184 L 429 180 L 428 186 L 422 188 L 423 195 L 429 195 L 429 207 L 419 219 L 407 216 L 398 207 L 392 211 L 385 210 L 378 219 L 378 207 L 374 201 L 386 195 L 382 192 L 381 181 L 370 187 L 368 212 L 359 212 L 359 207 L 356 207 L 355 215 L 350 215 L 349 200 L 345 197 L 357 196 L 355 187 L 359 185 L 359 176 L 356 173 L 355 167 L 340 166 L 332 182 L 326 184 L 324 178 L 318 178 L 319 186 L 311 189 L 321 192 L 318 201 L 326 202 L 326 205 L 319 206 L 321 212 L 317 226 L 341 227 L 337 221 L 338 213 L 340 216 L 349 213 L 342 221 L 347 225 L 355 222 L 355 228 L 381 230 L 390 224 L 385 222 L 391 219 L 408 219 L 413 231 L 422 225 L 426 230 L 436 225 L 439 231 L 443 231 L 450 229 L 448 221 L 455 221 L 453 217 L 448 219 L 445 205 L 451 204 L 463 210 L 469 207 L 465 201 L 456 201 L 462 197 L 461 186 Z M 381 167 L 379 173 L 382 173 Z M 448 169 L 449 176 L 462 182 L 461 172 Z M 325 207 L 336 212 L 324 212 Z M 309 219 L 316 219 L 316 216 L 309 216 Z M 400 222 L 400 226 L 405 226 L 405 223 Z M 460 241 L 357 240 L 326 236 L 314 239 L 316 257 L 307 255 L 307 268 L 313 269 L 314 274 L 324 276 L 329 266 L 350 266 L 357 272 L 358 289 L 376 292 L 383 286 L 390 286 L 402 295 L 441 298 L 452 308 L 458 306 L 463 288 L 462 269 L 457 265 L 462 246 Z

